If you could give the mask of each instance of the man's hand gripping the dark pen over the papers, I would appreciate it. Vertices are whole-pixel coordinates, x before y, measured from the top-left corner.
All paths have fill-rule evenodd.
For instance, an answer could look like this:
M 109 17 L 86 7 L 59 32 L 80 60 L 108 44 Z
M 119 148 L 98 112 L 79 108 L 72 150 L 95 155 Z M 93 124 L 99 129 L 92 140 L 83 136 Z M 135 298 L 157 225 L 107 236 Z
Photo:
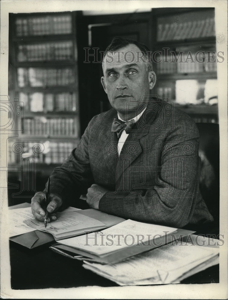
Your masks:
M 31 208 L 32 208 L 32 214 L 34 217 L 44 222 L 44 216 L 45 216 L 45 203 L 46 199 L 46 193 L 45 192 L 37 192 L 32 197 L 31 201 Z M 48 211 L 48 219 L 47 222 L 55 221 L 57 217 L 55 216 L 55 212 L 60 208 L 62 205 L 63 200 L 62 197 L 55 193 L 50 193 L 50 203 L 48 204 L 47 211 Z

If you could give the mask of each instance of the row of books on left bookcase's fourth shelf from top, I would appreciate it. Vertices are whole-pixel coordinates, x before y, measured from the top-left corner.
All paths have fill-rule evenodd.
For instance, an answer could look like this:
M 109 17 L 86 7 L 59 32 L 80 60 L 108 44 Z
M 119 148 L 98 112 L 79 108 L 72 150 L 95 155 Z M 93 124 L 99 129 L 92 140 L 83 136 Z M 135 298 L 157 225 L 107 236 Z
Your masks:
M 19 93 L 19 100 L 24 103 L 25 111 L 29 112 L 74 112 L 76 111 L 75 93 L 45 94 Z

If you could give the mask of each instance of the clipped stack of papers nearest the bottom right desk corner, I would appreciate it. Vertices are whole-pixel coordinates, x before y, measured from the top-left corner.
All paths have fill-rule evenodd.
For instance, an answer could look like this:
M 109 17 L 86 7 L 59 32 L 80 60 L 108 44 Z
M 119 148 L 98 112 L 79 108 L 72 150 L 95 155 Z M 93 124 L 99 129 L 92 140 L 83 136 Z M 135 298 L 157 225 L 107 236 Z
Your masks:
M 122 286 L 178 283 L 218 263 L 218 247 L 178 241 L 112 265 L 84 260 L 83 267 Z

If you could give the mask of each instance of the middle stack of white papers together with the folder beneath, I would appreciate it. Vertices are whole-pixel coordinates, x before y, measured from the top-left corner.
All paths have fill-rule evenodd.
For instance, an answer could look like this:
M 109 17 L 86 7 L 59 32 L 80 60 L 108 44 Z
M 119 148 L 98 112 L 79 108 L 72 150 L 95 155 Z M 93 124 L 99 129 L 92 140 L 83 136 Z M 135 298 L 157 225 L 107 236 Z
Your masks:
M 58 240 L 51 249 L 72 258 L 81 256 L 95 262 L 116 263 L 190 233 L 192 231 L 125 220 L 100 232 Z

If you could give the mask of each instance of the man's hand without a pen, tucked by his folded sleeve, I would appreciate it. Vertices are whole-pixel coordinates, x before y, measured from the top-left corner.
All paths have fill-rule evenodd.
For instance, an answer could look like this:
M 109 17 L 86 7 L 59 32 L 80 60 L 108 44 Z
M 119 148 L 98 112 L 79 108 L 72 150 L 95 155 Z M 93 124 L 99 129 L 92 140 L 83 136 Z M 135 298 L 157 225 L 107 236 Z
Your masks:
M 91 187 L 88 188 L 86 194 L 86 202 L 91 208 L 99 209 L 99 201 L 103 197 L 104 194 L 108 193 L 104 187 L 101 187 L 98 184 L 92 184 Z

